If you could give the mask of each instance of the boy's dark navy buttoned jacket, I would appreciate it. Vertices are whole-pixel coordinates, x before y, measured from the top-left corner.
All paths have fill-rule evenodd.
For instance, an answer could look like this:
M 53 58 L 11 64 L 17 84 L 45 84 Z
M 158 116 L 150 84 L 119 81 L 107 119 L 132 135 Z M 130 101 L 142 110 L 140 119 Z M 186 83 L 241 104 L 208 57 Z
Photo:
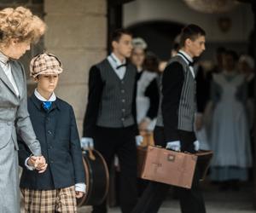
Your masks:
M 25 160 L 31 152 L 19 141 L 19 163 L 23 167 L 20 187 L 50 190 L 84 182 L 82 152 L 73 107 L 57 98 L 49 112 L 46 112 L 42 101 L 35 95 L 28 99 L 27 107 L 48 168 L 41 174 L 36 170 L 27 170 Z

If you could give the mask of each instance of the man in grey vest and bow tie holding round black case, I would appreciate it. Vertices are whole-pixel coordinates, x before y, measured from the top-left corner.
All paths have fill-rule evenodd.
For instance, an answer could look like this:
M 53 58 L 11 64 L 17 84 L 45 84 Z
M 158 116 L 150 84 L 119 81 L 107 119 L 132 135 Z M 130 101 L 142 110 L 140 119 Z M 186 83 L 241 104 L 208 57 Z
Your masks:
M 137 202 L 137 148 L 142 136 L 137 130 L 137 70 L 126 58 L 131 55 L 131 33 L 113 32 L 113 52 L 92 66 L 89 95 L 84 116 L 82 147 L 94 147 L 105 158 L 108 168 L 119 158 L 119 201 L 123 213 L 130 213 Z M 98 178 L 101 178 L 100 176 Z M 93 213 L 106 213 L 106 200 L 93 206 Z

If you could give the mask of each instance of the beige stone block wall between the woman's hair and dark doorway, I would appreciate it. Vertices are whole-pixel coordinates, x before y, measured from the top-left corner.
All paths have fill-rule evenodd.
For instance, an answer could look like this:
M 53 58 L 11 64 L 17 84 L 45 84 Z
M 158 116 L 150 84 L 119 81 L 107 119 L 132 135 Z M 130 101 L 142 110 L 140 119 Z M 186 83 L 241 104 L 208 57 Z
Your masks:
M 61 59 L 56 95 L 73 105 L 81 135 L 90 66 L 107 54 L 107 0 L 44 0 L 45 48 Z

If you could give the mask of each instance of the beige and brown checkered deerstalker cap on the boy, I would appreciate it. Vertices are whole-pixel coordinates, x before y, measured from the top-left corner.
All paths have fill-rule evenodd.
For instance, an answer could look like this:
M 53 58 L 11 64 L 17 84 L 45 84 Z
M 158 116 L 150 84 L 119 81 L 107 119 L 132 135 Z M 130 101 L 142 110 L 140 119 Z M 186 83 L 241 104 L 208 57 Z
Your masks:
M 38 75 L 55 75 L 63 71 L 61 60 L 55 55 L 44 53 L 32 58 L 30 62 L 30 76 L 36 78 Z

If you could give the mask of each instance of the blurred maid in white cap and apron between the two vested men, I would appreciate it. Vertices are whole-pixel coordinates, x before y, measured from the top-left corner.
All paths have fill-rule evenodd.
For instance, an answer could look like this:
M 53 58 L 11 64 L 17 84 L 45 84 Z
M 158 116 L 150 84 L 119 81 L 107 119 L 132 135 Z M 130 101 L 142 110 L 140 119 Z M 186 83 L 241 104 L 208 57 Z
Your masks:
M 132 40 L 131 63 L 137 66 L 137 124 L 140 131 L 152 132 L 159 107 L 159 60 L 152 53 L 146 54 L 147 43 L 143 38 Z

